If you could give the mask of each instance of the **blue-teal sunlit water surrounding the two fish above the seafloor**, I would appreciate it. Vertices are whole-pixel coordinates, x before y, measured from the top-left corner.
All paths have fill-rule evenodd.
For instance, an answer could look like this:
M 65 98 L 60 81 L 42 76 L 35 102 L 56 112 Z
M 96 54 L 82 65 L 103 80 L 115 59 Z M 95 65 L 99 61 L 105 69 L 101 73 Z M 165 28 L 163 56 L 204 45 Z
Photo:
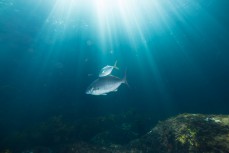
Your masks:
M 74 122 L 132 111 L 144 134 L 180 113 L 228 114 L 229 1 L 104 2 L 97 12 L 95 2 L 81 3 L 0 0 L 1 147 L 53 116 Z M 86 95 L 115 60 L 113 75 L 127 68 L 130 87 Z

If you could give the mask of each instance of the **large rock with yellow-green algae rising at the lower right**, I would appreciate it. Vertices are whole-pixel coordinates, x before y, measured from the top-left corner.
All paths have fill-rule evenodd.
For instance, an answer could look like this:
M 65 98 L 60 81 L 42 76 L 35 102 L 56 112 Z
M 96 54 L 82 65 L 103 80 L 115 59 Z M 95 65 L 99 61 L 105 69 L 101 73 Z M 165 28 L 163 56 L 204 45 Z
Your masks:
M 154 153 L 227 153 L 229 116 L 178 115 L 158 123 L 129 147 Z

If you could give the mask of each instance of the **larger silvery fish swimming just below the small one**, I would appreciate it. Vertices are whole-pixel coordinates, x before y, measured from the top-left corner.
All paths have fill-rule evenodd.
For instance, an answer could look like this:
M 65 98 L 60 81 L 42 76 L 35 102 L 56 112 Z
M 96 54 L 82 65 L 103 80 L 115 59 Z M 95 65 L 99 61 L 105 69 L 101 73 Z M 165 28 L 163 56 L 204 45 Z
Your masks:
M 118 87 L 121 84 L 128 85 L 126 80 L 126 73 L 123 79 L 113 75 L 99 77 L 89 85 L 85 93 L 90 95 L 107 95 L 110 92 L 118 91 Z

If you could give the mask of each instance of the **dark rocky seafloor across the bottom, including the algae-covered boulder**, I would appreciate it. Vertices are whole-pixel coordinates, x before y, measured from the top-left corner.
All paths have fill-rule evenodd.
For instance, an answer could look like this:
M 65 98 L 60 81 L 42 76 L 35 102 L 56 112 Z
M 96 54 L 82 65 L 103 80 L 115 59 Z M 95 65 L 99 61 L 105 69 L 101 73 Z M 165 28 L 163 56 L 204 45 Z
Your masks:
M 18 134 L 17 139 L 14 135 L 11 143 L 22 141 L 24 147 L 19 145 L 16 151 L 19 153 L 229 153 L 229 115 L 181 114 L 160 121 L 145 134 L 136 130 L 137 124 L 124 121 L 109 116 L 89 120 L 91 124 L 87 126 L 82 123 L 83 127 L 75 127 L 56 117 L 35 131 Z M 97 124 L 103 126 L 96 127 Z M 104 126 L 111 126 L 110 130 L 103 129 Z M 85 132 L 77 133 L 76 129 Z M 94 134 L 90 140 L 74 139 L 77 134 L 77 138 L 84 137 L 88 131 Z M 43 144 L 40 142 L 40 146 L 35 146 L 35 142 L 33 145 L 29 143 L 38 140 Z M 49 145 L 49 141 L 56 143 Z M 10 145 L 0 151 L 14 152 Z

